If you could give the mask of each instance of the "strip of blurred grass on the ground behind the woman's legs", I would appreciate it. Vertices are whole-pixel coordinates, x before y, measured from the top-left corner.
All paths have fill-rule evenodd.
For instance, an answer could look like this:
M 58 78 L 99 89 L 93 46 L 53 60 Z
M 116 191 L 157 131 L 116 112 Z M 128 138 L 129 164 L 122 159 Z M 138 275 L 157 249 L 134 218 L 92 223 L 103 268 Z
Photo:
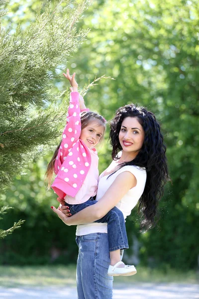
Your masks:
M 179 272 L 137 267 L 137 274 L 129 277 L 115 277 L 116 284 L 133 283 L 199 283 L 199 275 L 194 271 Z M 0 266 L 0 286 L 13 287 L 46 287 L 76 286 L 75 265 L 69 266 Z

